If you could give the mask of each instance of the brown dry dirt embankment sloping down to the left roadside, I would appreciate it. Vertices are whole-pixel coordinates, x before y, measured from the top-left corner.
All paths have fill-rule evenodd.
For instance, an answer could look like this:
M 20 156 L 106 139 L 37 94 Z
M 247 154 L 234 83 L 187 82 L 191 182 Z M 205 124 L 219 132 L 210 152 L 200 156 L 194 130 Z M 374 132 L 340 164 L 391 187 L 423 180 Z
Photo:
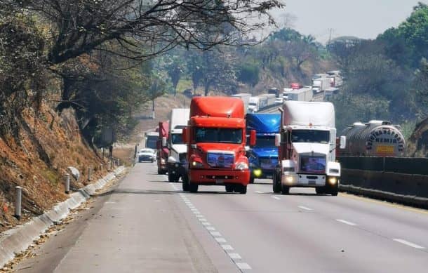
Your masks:
M 47 105 L 38 116 L 32 109 L 23 113 L 18 140 L 0 138 L 0 231 L 40 215 L 67 195 L 63 182 L 67 167 L 80 171 L 72 177 L 71 187 L 87 185 L 88 168 L 92 181 L 106 173 L 105 162 L 88 147 L 80 135 L 74 112 L 65 110 L 58 116 Z M 104 164 L 102 170 L 100 164 Z M 22 220 L 13 217 L 15 187 L 22 187 Z

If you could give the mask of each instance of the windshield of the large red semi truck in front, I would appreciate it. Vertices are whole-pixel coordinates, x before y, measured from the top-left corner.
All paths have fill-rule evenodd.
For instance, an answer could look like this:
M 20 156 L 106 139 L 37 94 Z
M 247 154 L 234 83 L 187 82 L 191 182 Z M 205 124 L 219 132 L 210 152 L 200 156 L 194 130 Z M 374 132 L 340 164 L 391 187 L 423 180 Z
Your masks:
M 196 142 L 241 143 L 242 129 L 195 128 Z

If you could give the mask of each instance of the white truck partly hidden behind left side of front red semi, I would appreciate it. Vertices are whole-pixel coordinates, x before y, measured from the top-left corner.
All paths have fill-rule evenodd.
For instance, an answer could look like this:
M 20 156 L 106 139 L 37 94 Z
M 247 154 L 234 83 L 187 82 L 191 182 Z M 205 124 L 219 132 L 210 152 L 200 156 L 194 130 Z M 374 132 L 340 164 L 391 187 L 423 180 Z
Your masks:
M 169 156 L 166 163 L 169 182 L 178 182 L 180 177 L 182 178 L 185 175 L 187 145 L 182 140 L 182 128 L 187 126 L 189 113 L 189 108 L 175 108 L 171 110 L 167 143 Z M 166 140 L 162 140 L 162 142 L 164 141 L 166 142 Z

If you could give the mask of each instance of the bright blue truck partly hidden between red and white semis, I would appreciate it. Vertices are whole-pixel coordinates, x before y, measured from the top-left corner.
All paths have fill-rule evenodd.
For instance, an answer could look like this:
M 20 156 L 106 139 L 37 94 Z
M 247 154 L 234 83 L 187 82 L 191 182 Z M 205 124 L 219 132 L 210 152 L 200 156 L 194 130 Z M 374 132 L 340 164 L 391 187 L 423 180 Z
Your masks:
M 250 168 L 250 183 L 255 178 L 272 177 L 278 164 L 278 147 L 275 147 L 275 134 L 279 132 L 281 114 L 247 114 L 247 135 L 251 130 L 257 133 L 254 147 L 247 151 Z

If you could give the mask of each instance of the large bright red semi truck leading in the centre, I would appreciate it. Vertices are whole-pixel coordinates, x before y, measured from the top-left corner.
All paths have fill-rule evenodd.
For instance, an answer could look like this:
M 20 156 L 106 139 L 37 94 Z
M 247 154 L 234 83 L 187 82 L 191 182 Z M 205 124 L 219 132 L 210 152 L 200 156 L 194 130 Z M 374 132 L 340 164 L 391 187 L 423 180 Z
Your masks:
M 199 185 L 225 185 L 226 192 L 246 194 L 250 171 L 242 100 L 193 98 L 183 140 L 187 144 L 183 190 L 197 192 Z M 254 130 L 250 132 L 250 145 L 255 145 Z

